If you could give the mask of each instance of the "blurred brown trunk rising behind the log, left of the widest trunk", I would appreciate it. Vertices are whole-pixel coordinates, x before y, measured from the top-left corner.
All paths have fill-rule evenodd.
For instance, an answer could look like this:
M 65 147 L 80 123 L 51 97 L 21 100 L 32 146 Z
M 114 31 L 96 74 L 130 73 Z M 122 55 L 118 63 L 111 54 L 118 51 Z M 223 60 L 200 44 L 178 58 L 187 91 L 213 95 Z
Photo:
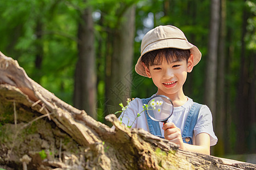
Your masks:
M 92 10 L 90 8 L 86 8 L 81 14 L 77 48 L 79 59 L 75 71 L 74 106 L 84 109 L 96 119 L 96 57 Z

